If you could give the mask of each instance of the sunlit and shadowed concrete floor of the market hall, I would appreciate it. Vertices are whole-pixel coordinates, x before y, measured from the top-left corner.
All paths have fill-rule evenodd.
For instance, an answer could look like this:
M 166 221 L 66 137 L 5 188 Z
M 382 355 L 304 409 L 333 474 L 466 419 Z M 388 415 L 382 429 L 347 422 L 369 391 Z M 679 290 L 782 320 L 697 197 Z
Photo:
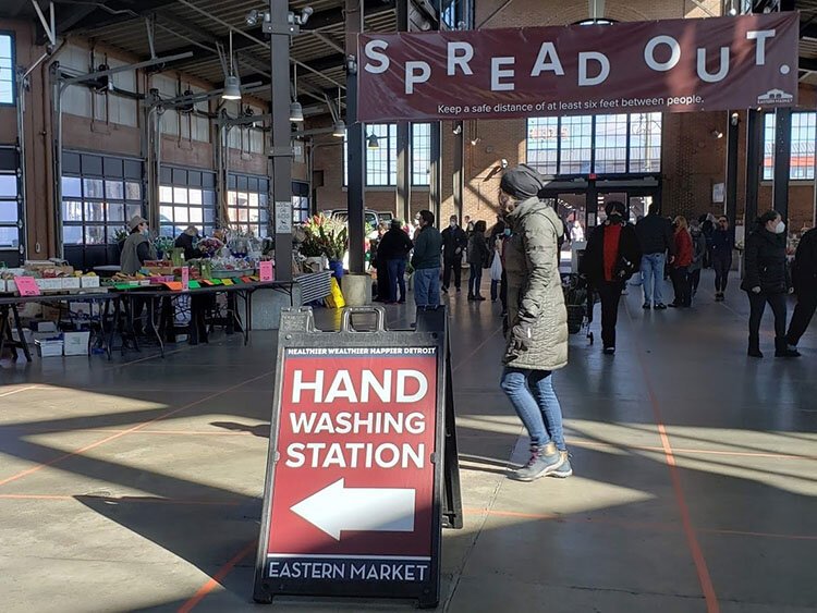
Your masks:
M 556 384 L 576 474 L 534 483 L 503 476 L 526 440 L 497 387 L 498 307 L 450 298 L 465 528 L 444 532 L 441 609 L 817 610 L 817 328 L 800 360 L 748 359 L 745 297 L 710 285 L 680 312 L 631 287 L 614 357 L 571 336 Z M 276 340 L 221 339 L 2 364 L 0 610 L 257 610 Z

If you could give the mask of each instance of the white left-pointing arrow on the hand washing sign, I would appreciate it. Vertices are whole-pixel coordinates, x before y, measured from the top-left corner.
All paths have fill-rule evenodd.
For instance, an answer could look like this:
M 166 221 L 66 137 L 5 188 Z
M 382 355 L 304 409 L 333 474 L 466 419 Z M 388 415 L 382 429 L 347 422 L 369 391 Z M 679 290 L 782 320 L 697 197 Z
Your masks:
M 292 511 L 339 541 L 341 530 L 414 531 L 415 490 L 344 488 L 344 479 L 315 492 Z

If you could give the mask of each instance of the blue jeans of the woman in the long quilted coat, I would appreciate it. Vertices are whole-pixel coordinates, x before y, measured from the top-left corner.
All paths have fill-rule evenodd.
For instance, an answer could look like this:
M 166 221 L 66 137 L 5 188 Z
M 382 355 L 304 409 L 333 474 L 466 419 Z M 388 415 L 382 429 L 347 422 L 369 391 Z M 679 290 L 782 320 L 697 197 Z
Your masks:
M 505 367 L 500 385 L 525 425 L 532 445 L 544 446 L 552 441 L 560 451 L 568 449 L 551 371 Z

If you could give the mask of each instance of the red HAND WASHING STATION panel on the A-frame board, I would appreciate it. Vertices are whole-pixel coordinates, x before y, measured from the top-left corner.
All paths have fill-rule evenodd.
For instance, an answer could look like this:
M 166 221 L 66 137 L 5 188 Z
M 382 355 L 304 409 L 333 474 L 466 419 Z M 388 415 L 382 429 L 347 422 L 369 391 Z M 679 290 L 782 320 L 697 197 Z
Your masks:
M 286 348 L 266 578 L 427 581 L 437 348 Z

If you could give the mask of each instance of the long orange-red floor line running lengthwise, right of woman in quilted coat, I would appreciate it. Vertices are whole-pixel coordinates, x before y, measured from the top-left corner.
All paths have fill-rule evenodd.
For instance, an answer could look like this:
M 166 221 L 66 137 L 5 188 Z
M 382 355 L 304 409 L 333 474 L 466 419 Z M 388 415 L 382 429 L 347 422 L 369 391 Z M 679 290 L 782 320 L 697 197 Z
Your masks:
M 630 322 L 634 323 L 633 317 L 630 314 L 630 309 L 626 307 L 626 302 L 624 303 L 624 310 L 626 310 L 627 317 L 630 318 Z M 647 365 L 644 363 L 644 357 L 642 355 L 642 347 L 641 343 L 638 342 L 637 335 L 633 336 L 633 344 L 635 345 L 635 355 L 638 358 L 638 365 L 642 369 L 642 375 L 644 376 L 644 384 L 647 388 L 647 395 L 649 396 L 649 403 L 653 407 L 653 415 L 656 420 L 656 426 L 658 427 L 658 434 L 661 439 L 661 446 L 663 448 L 663 455 L 667 459 L 667 466 L 669 466 L 670 469 L 670 479 L 672 480 L 672 489 L 675 492 L 675 502 L 678 503 L 678 510 L 681 514 L 681 524 L 684 527 L 684 535 L 686 536 L 686 543 L 690 547 L 690 552 L 692 553 L 693 562 L 695 563 L 695 569 L 698 574 L 698 580 L 700 581 L 700 588 L 704 591 L 704 598 L 706 599 L 706 609 L 708 613 L 719 613 L 720 612 L 720 604 L 718 603 L 718 597 L 715 593 L 715 587 L 712 586 L 712 578 L 709 575 L 709 568 L 706 564 L 706 559 L 704 557 L 704 552 L 700 549 L 700 543 L 698 542 L 698 537 L 695 534 L 695 527 L 692 523 L 692 516 L 690 514 L 690 507 L 686 504 L 686 498 L 684 496 L 684 490 L 681 487 L 681 475 L 678 470 L 678 464 L 675 463 L 675 454 L 672 450 L 672 443 L 670 443 L 670 438 L 667 434 L 667 427 L 663 425 L 663 416 L 661 415 L 661 406 L 658 402 L 658 396 L 656 395 L 655 389 L 653 388 L 653 382 L 649 378 L 649 371 L 647 370 Z

